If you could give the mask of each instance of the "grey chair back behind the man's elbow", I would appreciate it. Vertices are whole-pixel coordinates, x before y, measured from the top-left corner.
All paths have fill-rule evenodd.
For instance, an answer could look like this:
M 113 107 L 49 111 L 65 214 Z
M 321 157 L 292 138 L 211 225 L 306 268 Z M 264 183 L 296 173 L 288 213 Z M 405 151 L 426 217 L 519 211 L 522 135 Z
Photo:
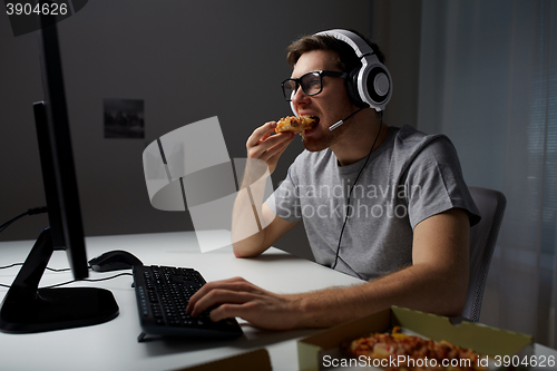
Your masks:
M 502 223 L 507 199 L 495 189 L 469 187 L 481 221 L 470 228 L 470 281 L 462 316 L 478 322 L 491 256 Z

